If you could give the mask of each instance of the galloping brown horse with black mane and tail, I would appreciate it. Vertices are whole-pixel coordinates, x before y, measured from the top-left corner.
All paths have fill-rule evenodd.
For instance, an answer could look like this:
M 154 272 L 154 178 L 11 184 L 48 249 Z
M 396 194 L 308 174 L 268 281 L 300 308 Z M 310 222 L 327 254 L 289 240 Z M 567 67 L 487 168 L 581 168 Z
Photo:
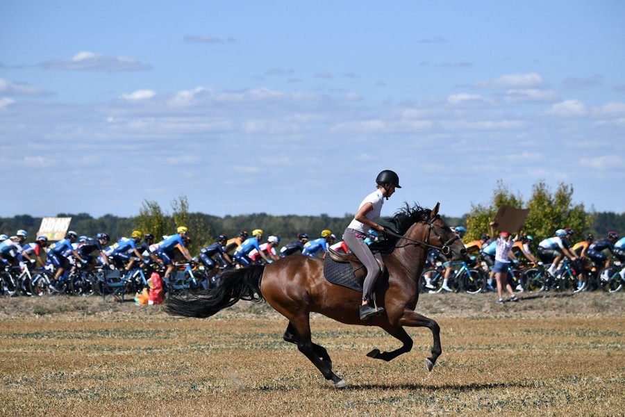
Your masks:
M 431 318 L 415 312 L 419 300 L 418 281 L 427 249 L 437 247 L 446 254 L 466 253 L 456 234 L 438 215 L 439 206 L 436 204 L 430 211 L 406 205 L 394 217 L 387 218 L 394 224 L 397 234 L 392 234 L 379 248 L 384 253 L 387 274 L 378 278 L 375 288 L 378 305 L 384 307 L 385 313 L 366 322 L 358 316 L 362 293 L 329 283 L 324 278 L 322 259 L 299 255 L 287 256 L 269 265 L 252 265 L 226 272 L 216 288 L 192 295 L 187 300 L 169 297 L 165 311 L 177 316 L 206 318 L 239 300 L 266 300 L 289 320 L 284 340 L 296 344 L 337 388 L 347 384 L 333 373 L 326 349 L 311 341 L 311 312 L 348 325 L 375 325 L 399 339 L 403 345 L 397 350 L 380 352 L 374 349 L 367 354 L 383 361 L 390 361 L 412 349 L 412 338 L 403 326 L 428 327 L 434 336 L 432 355 L 426 359 L 426 366 L 431 371 L 442 352 L 440 327 Z

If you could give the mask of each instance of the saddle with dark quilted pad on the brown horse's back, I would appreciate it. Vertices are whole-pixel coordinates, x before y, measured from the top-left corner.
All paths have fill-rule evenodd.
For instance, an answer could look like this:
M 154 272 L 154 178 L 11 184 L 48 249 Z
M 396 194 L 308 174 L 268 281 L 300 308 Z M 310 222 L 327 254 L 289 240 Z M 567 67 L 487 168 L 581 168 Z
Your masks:
M 378 286 L 383 277 L 386 277 L 386 268 L 384 267 L 381 254 L 376 253 L 374 256 L 381 270 L 376 281 L 376 286 Z M 324 276 L 333 284 L 362 292 L 367 270 L 354 254 L 340 254 L 328 248 L 326 259 L 324 260 Z

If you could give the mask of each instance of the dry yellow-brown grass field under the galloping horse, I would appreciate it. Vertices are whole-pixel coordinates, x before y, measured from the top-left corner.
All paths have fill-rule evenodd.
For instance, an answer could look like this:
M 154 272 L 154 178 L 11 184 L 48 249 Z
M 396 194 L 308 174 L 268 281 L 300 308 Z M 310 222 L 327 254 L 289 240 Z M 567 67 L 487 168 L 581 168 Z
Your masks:
M 312 320 L 348 383 L 334 389 L 282 341 L 287 322 L 240 302 L 206 320 L 89 297 L 0 297 L 1 416 L 614 415 L 625 410 L 625 294 L 422 295 L 442 329 L 408 329 L 412 352 L 375 327 Z

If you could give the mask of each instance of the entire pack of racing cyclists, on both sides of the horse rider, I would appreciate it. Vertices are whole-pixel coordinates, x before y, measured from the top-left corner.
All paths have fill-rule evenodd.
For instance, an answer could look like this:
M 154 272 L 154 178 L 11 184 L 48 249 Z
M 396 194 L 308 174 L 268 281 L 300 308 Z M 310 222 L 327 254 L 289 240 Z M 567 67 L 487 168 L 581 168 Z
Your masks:
M 462 226 L 455 227 L 454 230 L 460 240 L 467 233 L 465 227 Z M 234 266 L 244 268 L 254 263 L 272 263 L 292 254 L 323 257 L 328 248 L 336 252 L 350 252 L 344 241 L 336 242 L 335 235 L 328 229 L 324 229 L 319 238 L 313 240 L 310 240 L 307 234 L 300 233 L 296 240 L 286 243 L 279 250 L 281 238 L 272 235 L 263 243 L 264 234 L 262 229 L 253 229 L 251 236 L 247 231 L 241 231 L 232 239 L 228 239 L 225 234 L 220 234 L 215 243 L 201 248 L 197 258 L 193 258 L 188 250 L 191 239 L 185 226 L 178 227 L 176 234 L 163 236 L 163 239 L 158 242 L 153 234 L 142 234 L 141 231 L 135 230 L 131 236 L 122 236 L 115 243 L 110 242 L 110 236 L 106 233 L 89 237 L 78 236 L 74 231 L 68 231 L 65 238 L 55 243 L 49 243 L 47 236 L 38 236 L 34 242 L 26 243 L 28 234 L 20 229 L 14 236 L 0 235 L 0 261 L 7 265 L 20 265 L 22 268 L 26 265 L 35 265 L 35 263 L 47 265 L 47 268 L 55 270 L 52 280 L 54 283 L 62 279 L 63 274 L 72 265 L 72 261 L 87 270 L 92 270 L 97 266 L 131 270 L 136 265 L 158 265 L 163 268 L 164 277 L 167 279 L 176 268 L 177 261 L 201 264 L 207 272 L 217 273 L 220 268 Z M 494 236 L 492 225 L 491 235 Z M 557 275 L 556 270 L 565 258 L 571 261 L 584 261 L 590 264 L 590 268 L 596 270 L 608 266 L 610 259 L 606 252 L 610 252 L 615 259 L 625 261 L 625 238 L 619 240 L 619 235 L 615 231 L 608 232 L 605 238 L 599 240 L 594 240 L 593 236 L 588 234 L 575 244 L 571 242 L 573 235 L 573 229 L 558 229 L 554 236 L 538 243 L 536 255 L 534 255 L 533 237 L 518 234 L 508 256 L 512 261 L 526 259 L 531 263 L 541 262 L 552 276 Z M 508 235 L 506 234 L 504 238 L 508 238 Z M 377 239 L 377 232 L 369 229 L 365 244 L 369 245 Z M 478 254 L 481 261 L 490 268 L 491 275 L 487 288 L 495 291 L 492 267 L 496 262 L 497 236 L 493 238 L 482 234 L 478 240 L 466 243 L 465 247 L 469 254 Z M 434 264 L 437 261 L 444 266 L 442 290 L 452 291 L 448 285 L 449 277 L 453 272 L 451 259 L 439 251 L 430 250 L 428 263 Z M 625 279 L 623 277 L 625 269 L 621 274 Z M 581 277 L 578 285 L 583 285 Z M 426 277 L 426 288 L 434 288 L 428 277 Z

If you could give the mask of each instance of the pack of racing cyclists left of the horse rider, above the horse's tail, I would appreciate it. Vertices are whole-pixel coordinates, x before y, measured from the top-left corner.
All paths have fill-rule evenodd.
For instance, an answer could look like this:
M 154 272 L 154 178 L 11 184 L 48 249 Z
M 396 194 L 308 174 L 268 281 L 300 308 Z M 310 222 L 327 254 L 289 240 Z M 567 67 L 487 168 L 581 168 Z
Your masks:
M 295 253 L 322 256 L 335 242 L 335 236 L 328 229 L 313 240 L 309 240 L 307 234 L 298 234 L 297 240 L 281 249 L 278 246 L 281 241 L 279 236 L 269 236 L 262 243 L 262 229 L 254 229 L 251 235 L 241 231 L 236 238 L 228 239 L 225 234 L 220 234 L 215 243 L 202 247 L 198 256 L 193 258 L 188 250 L 191 238 L 185 226 L 178 227 L 175 234 L 163 236 L 158 242 L 153 234 L 135 230 L 129 237 L 122 236 L 114 243 L 104 232 L 89 237 L 78 236 L 75 231 L 67 231 L 64 238 L 54 243 L 44 235 L 38 236 L 33 243 L 26 243 L 28 233 L 20 229 L 15 236 L 0 235 L 0 263 L 19 268 L 39 264 L 53 270 L 51 288 L 56 288 L 71 268 L 92 271 L 99 267 L 129 271 L 137 266 L 151 265 L 163 270 L 167 279 L 178 261 L 193 266 L 201 264 L 207 272 L 217 273 L 219 268 L 271 263 Z

